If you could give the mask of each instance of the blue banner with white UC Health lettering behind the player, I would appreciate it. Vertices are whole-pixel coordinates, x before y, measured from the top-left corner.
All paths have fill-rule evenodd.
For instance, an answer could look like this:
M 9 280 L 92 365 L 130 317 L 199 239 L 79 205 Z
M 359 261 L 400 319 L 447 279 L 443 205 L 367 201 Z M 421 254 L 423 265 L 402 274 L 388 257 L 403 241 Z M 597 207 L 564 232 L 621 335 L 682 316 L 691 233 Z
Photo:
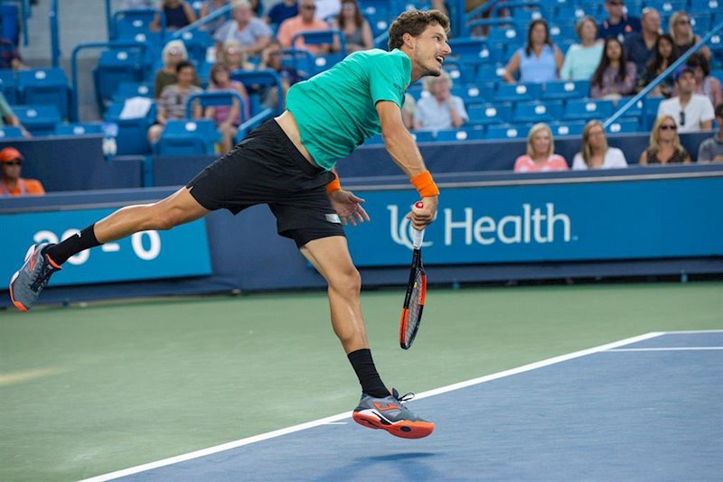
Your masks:
M 723 255 L 723 177 L 452 188 L 426 264 Z M 360 191 L 371 223 L 346 229 L 354 263 L 409 263 L 413 190 Z

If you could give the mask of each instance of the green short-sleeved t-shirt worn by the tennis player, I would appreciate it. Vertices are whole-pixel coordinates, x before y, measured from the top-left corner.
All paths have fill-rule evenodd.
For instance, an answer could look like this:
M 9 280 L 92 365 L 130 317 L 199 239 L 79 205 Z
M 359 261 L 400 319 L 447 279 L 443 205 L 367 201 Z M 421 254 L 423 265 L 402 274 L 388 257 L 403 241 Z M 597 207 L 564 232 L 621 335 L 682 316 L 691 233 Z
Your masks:
M 376 105 L 401 108 L 412 63 L 395 49 L 356 51 L 312 79 L 289 89 L 286 109 L 296 118 L 301 142 L 325 170 L 380 133 Z

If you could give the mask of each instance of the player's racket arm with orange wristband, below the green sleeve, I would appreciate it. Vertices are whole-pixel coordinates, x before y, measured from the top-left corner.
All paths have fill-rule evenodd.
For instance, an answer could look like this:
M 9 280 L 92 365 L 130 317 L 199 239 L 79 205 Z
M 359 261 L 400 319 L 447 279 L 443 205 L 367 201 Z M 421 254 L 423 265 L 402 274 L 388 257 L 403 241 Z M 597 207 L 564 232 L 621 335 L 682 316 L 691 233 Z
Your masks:
M 380 101 L 377 102 L 377 113 L 379 113 L 381 135 L 384 138 L 387 152 L 390 153 L 391 159 L 399 166 L 399 169 L 408 175 L 409 180 L 419 191 L 424 204 L 424 208 L 410 211 L 407 218 L 411 219 L 412 226 L 416 229 L 427 227 L 437 213 L 439 203 L 437 185 L 424 165 L 417 144 L 402 122 L 399 106 L 394 102 Z

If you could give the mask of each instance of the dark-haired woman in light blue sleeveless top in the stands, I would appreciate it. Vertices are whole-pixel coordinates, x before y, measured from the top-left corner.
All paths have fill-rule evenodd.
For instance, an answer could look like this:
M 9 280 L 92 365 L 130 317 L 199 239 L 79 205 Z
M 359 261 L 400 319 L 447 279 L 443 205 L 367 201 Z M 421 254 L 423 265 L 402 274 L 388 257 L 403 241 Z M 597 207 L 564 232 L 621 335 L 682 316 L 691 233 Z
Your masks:
M 527 43 L 514 52 L 504 69 L 504 80 L 514 83 L 518 70 L 522 83 L 557 80 L 562 60 L 562 52 L 549 40 L 548 23 L 533 20 L 527 31 Z

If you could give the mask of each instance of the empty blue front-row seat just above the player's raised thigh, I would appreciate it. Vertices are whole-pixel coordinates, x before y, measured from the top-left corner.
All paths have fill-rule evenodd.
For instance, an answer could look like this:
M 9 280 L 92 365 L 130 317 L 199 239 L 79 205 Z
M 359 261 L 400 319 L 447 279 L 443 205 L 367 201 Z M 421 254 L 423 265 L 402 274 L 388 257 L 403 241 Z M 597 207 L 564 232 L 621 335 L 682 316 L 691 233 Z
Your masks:
M 155 144 L 155 153 L 164 156 L 211 155 L 221 140 L 212 119 L 172 119 Z

